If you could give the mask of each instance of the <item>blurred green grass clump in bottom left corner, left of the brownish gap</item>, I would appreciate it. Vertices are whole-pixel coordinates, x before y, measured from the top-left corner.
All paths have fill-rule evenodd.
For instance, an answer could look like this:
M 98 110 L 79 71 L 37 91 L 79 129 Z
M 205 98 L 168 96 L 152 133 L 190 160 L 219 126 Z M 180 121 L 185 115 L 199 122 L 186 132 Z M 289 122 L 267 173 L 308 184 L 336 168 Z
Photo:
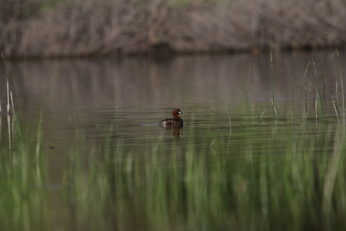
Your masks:
M 49 230 L 52 217 L 46 191 L 49 187 L 46 156 L 36 158 L 40 153 L 30 143 L 32 139 L 18 136 L 10 139 L 14 141 L 10 148 L 3 142 L 0 148 L 1 229 Z

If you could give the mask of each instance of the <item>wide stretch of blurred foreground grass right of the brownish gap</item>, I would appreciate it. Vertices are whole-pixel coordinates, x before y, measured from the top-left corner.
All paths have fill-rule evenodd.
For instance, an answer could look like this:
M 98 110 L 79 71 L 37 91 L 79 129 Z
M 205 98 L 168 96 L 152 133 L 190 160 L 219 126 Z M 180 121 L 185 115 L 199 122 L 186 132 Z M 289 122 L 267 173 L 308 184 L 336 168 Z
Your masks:
M 84 167 L 81 153 L 71 153 L 73 180 L 64 188 L 75 209 L 66 212 L 80 230 L 346 228 L 344 135 L 322 130 L 314 139 L 288 134 L 228 148 L 211 136 L 203 143 L 182 149 L 172 141 L 167 151 L 158 140 L 102 157 L 94 149 Z

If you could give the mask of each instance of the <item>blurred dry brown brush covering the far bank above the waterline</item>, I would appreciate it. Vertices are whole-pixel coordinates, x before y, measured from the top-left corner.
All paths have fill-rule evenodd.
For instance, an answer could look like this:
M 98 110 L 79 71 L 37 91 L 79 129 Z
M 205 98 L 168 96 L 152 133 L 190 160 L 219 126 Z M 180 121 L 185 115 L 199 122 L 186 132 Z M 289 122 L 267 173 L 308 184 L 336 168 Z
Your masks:
M 344 0 L 2 0 L 7 57 L 342 48 Z

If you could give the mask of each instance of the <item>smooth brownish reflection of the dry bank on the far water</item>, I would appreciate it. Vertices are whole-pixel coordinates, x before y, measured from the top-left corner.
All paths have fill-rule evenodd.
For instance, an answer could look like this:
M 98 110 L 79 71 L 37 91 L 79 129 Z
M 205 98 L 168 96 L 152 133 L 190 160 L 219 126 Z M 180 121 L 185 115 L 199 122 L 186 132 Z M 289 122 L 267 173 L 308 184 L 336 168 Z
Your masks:
M 307 78 L 314 85 L 312 74 L 323 71 L 327 92 L 335 92 L 340 70 L 333 51 L 297 52 L 294 55 L 295 62 L 292 62 L 293 54 L 290 52 L 274 53 L 275 97 L 285 98 L 288 87 L 289 97 L 292 97 L 292 72 L 293 97 L 299 97 L 297 91 L 302 82 L 304 87 L 313 89 L 307 81 L 303 81 L 312 58 L 316 62 L 316 72 L 310 64 Z M 344 60 L 340 61 L 343 63 Z M 107 106 L 114 108 L 117 105 L 121 109 L 128 108 L 131 112 L 146 108 L 153 113 L 155 110 L 175 106 L 182 108 L 185 105 L 191 107 L 200 103 L 224 101 L 225 98 L 229 102 L 237 102 L 246 96 L 248 78 L 249 99 L 272 97 L 270 54 L 267 53 L 176 56 L 161 61 L 144 57 L 127 57 L 121 60 L 18 60 L 8 61 L 8 64 L 22 110 L 40 107 L 44 92 L 55 75 L 49 103 L 57 104 L 64 110 L 69 108 L 70 89 L 73 108 L 82 111 L 104 109 Z M 3 63 L 0 67 L 2 76 L 7 76 Z M 6 89 L 5 81 L 2 78 L 0 82 L 3 89 Z M 317 81 L 322 81 L 320 75 L 317 76 Z M 1 91 L 1 98 L 5 99 L 5 96 L 6 91 Z M 141 114 L 142 111 L 137 113 Z

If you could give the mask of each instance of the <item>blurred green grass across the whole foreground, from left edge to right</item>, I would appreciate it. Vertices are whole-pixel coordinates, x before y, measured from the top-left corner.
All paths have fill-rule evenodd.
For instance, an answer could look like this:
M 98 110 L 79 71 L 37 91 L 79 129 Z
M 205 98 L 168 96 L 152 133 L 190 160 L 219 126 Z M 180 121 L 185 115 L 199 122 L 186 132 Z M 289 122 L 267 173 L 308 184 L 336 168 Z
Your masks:
M 312 136 L 249 134 L 242 144 L 246 132 L 231 139 L 210 135 L 202 144 L 191 135 L 186 145 L 159 137 L 145 149 L 121 140 L 80 143 L 71 147 L 55 197 L 49 195 L 49 148 L 36 162 L 36 146 L 17 140 L 11 156 L 0 153 L 1 227 L 344 230 L 346 141 L 340 128 L 321 126 Z

